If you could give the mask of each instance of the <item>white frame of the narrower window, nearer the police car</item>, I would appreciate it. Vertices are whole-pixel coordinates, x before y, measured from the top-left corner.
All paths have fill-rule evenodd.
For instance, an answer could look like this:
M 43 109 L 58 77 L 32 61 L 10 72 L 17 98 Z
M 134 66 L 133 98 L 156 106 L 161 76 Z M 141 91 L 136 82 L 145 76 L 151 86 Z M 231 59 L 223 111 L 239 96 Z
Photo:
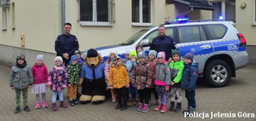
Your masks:
M 131 1 L 132 8 L 132 1 Z M 152 0 L 150 0 L 150 23 L 143 23 L 143 0 L 139 0 L 139 22 L 132 22 L 132 10 L 131 9 L 131 25 L 132 26 L 152 26 Z

